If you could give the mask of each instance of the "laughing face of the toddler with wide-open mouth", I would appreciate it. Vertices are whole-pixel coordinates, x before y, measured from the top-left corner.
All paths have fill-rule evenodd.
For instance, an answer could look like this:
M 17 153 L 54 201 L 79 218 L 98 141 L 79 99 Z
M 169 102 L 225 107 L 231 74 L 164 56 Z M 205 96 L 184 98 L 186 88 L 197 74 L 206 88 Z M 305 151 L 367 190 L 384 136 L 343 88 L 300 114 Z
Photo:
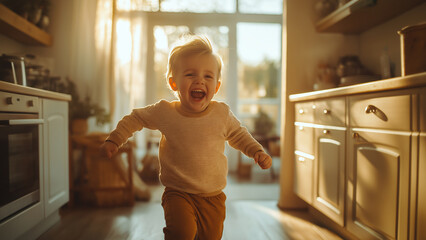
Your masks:
M 202 112 L 219 90 L 218 63 L 211 54 L 190 55 L 179 59 L 170 86 L 177 91 L 181 107 L 189 112 Z

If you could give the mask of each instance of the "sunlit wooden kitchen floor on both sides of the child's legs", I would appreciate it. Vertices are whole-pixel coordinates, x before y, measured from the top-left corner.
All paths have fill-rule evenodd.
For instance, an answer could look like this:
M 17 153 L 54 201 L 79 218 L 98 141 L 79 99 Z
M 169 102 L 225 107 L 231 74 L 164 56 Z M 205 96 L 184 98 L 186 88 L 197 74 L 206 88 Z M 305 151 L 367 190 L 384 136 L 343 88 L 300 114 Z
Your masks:
M 228 178 L 223 240 L 341 239 L 314 224 L 305 211 L 280 211 L 278 179 L 261 174 L 251 180 Z M 61 209 L 61 222 L 39 239 L 164 239 L 163 190 L 160 185 L 151 186 L 151 201 L 133 207 Z

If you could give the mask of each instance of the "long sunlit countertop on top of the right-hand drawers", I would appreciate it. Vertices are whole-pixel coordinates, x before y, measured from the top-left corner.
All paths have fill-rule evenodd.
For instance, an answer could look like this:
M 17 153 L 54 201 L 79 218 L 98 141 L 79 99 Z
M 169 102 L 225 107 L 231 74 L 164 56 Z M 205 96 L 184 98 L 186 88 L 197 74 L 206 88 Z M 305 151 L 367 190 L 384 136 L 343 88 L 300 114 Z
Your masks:
M 404 77 L 396 77 L 385 80 L 377 80 L 368 83 L 356 84 L 345 87 L 330 88 L 319 91 L 292 94 L 291 102 L 315 100 L 318 98 L 347 96 L 360 93 L 381 92 L 396 89 L 414 88 L 426 86 L 426 72 L 412 74 Z

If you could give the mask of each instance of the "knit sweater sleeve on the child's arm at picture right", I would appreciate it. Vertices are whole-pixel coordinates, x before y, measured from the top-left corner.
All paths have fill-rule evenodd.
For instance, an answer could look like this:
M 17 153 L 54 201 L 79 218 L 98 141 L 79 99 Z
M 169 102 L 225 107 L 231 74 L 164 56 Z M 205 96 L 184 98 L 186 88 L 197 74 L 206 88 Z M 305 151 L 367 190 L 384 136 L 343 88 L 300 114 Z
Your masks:
M 228 108 L 229 109 L 229 108 Z M 260 145 L 248 132 L 247 128 L 241 126 L 241 122 L 235 117 L 231 110 L 228 111 L 226 121 L 226 140 L 231 147 L 240 150 L 248 157 L 253 158 L 257 151 L 264 151 Z

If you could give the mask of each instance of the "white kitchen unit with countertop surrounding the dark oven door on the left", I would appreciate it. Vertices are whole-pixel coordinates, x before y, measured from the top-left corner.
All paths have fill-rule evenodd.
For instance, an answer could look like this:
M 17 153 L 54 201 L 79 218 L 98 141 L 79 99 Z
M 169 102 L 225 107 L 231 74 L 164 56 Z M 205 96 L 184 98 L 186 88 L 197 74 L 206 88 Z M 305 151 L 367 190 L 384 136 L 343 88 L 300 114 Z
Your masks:
M 14 98 L 15 95 L 11 94 L 18 97 Z M 35 96 L 37 101 L 26 101 L 28 96 Z M 0 239 L 37 239 L 60 221 L 59 208 L 67 203 L 69 198 L 68 101 L 71 97 L 0 82 L 0 98 L 0 101 L 7 104 L 16 100 L 24 101 L 24 105 L 27 106 L 36 105 L 38 111 L 33 111 L 32 118 L 40 122 L 37 141 L 39 153 L 37 200 L 0 221 Z M 12 116 L 15 115 L 18 116 L 19 111 Z M 27 123 L 28 120 L 21 122 Z M 13 158 L 15 157 L 11 159 Z

